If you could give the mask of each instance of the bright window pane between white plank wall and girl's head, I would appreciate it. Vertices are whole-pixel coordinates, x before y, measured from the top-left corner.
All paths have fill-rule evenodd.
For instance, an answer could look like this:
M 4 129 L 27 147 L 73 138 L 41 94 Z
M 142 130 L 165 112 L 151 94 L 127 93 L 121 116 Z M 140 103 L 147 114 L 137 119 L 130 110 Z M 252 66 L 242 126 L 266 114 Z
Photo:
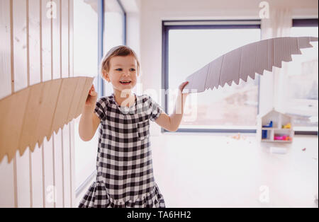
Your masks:
M 98 74 L 97 6 L 97 0 L 74 1 L 74 76 L 93 77 Z M 97 86 L 96 79 L 94 86 Z M 91 141 L 84 142 L 79 137 L 78 129 L 79 118 L 74 121 L 75 186 L 77 188 L 96 169 L 98 139 L 95 136 Z

